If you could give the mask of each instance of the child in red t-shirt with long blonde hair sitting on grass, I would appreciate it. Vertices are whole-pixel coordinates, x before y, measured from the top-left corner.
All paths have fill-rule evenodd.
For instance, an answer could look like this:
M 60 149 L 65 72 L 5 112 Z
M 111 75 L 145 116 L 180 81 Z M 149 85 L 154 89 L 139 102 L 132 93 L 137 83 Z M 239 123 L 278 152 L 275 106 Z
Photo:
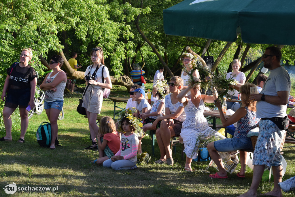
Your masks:
M 98 165 L 101 165 L 119 151 L 120 137 L 116 131 L 115 122 L 110 116 L 104 116 L 99 121 L 97 146 L 99 158 L 91 163 L 97 163 Z

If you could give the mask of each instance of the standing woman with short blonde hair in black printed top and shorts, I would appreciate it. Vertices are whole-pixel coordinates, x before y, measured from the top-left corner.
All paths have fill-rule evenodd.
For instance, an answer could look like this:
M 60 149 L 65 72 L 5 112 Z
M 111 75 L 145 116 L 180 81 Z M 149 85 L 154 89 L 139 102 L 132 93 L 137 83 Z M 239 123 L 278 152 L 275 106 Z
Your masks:
M 37 74 L 34 68 L 28 63 L 32 59 L 31 49 L 23 49 L 19 56 L 19 63 L 13 63 L 7 69 L 7 77 L 4 82 L 2 101 L 5 100 L 3 108 L 3 121 L 6 135 L 0 138 L 0 141 L 12 141 L 11 115 L 19 106 L 19 115 L 21 118 L 21 132 L 18 142 L 24 143 L 24 135 L 27 132 L 29 119 L 28 105 L 33 109 L 35 107 L 34 96 L 37 84 Z M 7 93 L 7 95 L 6 95 Z

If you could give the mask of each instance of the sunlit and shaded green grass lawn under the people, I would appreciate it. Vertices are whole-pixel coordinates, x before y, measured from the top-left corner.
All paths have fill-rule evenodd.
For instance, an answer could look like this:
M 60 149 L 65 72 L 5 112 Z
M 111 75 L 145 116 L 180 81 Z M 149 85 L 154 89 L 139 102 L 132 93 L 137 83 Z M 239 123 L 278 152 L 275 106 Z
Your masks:
M 151 86 L 151 84 L 148 84 Z M 150 87 L 151 88 L 151 87 Z M 148 88 L 147 88 L 148 89 Z M 89 162 L 98 158 L 97 151 L 84 150 L 90 145 L 87 119 L 76 112 L 81 94 L 65 97 L 65 118 L 58 121 L 58 139 L 62 147 L 56 150 L 41 148 L 36 141 L 36 130 L 43 121 L 48 121 L 45 111 L 34 114 L 29 120 L 25 143 L 17 142 L 20 133 L 19 119 L 14 115 L 12 129 L 13 142 L 0 142 L 0 185 L 16 183 L 17 187 L 56 187 L 55 192 L 21 192 L 14 196 L 238 196 L 246 192 L 251 184 L 253 171 L 247 167 L 246 178 L 240 179 L 235 174 L 228 179 L 209 178 L 209 173 L 217 170 L 209 168 L 209 162 L 193 162 L 193 173 L 183 170 L 185 160 L 181 159 L 181 147 L 173 153 L 173 166 L 156 165 L 160 152 L 155 145 L 152 163 L 140 164 L 137 170 L 114 171 L 93 165 Z M 129 96 L 126 88 L 114 86 L 111 96 Z M 125 104 L 121 104 L 124 107 Z M 112 117 L 114 104 L 104 99 L 101 115 Z M 0 132 L 0 137 L 5 131 Z M 142 140 L 143 151 L 151 155 L 150 137 Z M 291 146 L 286 144 L 285 146 Z M 294 176 L 295 148 L 284 148 L 284 157 L 288 163 L 283 179 Z M 272 183 L 262 182 L 258 193 L 266 193 Z M 0 196 L 9 196 L 3 189 Z M 294 192 L 283 193 L 294 196 Z

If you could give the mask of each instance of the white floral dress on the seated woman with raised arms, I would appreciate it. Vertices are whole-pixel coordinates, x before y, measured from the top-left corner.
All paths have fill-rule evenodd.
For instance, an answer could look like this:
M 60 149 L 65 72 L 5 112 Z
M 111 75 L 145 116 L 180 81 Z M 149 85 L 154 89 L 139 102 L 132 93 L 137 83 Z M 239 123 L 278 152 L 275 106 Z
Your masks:
M 190 99 L 190 96 L 189 96 Z M 213 130 L 208 126 L 207 119 L 204 117 L 204 101 L 199 96 L 200 104 L 199 107 L 188 101 L 184 107 L 186 113 L 186 119 L 182 123 L 182 129 L 180 136 L 183 139 L 184 150 L 186 156 L 192 159 L 196 159 L 199 151 L 199 137 L 206 138 L 209 136 L 219 137 L 223 139 L 223 135 Z

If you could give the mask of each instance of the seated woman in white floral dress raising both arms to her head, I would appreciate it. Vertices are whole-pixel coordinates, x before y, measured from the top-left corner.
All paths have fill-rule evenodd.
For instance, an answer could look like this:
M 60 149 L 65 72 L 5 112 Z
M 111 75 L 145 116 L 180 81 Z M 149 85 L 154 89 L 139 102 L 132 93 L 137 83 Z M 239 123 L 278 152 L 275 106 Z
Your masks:
M 199 151 L 199 138 L 207 138 L 215 136 L 223 139 L 223 135 L 208 126 L 207 119 L 204 117 L 204 102 L 214 103 L 217 99 L 217 91 L 213 90 L 213 96 L 200 94 L 200 79 L 194 77 L 194 81 L 199 82 L 193 86 L 190 84 L 188 88 L 181 91 L 177 95 L 177 100 L 183 103 L 186 119 L 182 124 L 179 141 L 184 143 L 184 151 L 186 153 L 186 163 L 184 170 L 192 171 L 191 161 L 196 159 Z M 189 91 L 191 94 L 185 96 Z

